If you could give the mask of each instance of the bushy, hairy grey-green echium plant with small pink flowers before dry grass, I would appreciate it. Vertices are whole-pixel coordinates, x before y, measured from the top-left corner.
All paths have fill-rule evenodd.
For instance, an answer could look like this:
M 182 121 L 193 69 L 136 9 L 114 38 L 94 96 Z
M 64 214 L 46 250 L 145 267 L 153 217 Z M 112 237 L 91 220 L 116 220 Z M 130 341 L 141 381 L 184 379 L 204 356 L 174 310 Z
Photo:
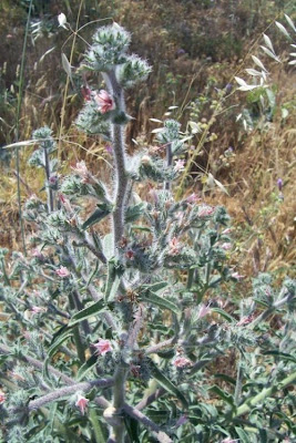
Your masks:
M 48 199 L 25 204 L 31 255 L 0 255 L 2 441 L 288 442 L 295 282 L 261 275 L 239 310 L 228 302 L 242 278 L 227 266 L 229 217 L 195 194 L 174 199 L 177 122 L 127 156 L 124 92 L 150 73 L 130 39 L 100 28 L 81 68 L 102 74 L 76 124 L 110 140 L 111 183 L 84 162 L 60 177 L 51 131 L 33 134 Z

